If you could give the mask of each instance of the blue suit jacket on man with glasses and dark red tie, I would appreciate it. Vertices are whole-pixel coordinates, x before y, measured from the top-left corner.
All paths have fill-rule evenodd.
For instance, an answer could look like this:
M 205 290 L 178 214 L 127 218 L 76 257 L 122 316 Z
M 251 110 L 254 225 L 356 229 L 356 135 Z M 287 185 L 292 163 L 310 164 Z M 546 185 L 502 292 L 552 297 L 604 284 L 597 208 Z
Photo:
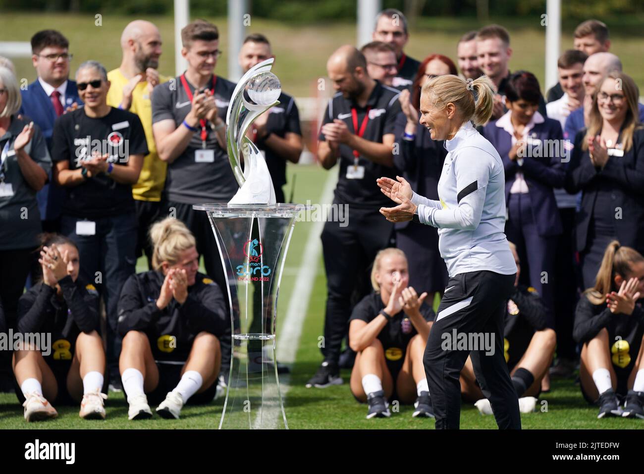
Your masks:
M 47 148 L 52 150 L 52 133 L 53 122 L 56 120 L 56 112 L 53 109 L 52 100 L 45 93 L 43 86 L 38 80 L 33 81 L 27 86 L 27 90 L 21 90 L 23 96 L 23 105 L 19 113 L 30 119 L 40 127 L 43 136 L 47 142 Z M 82 100 L 79 97 L 76 88 L 76 82 L 68 80 L 67 90 L 65 91 L 65 103 L 62 108 L 71 106 L 73 102 L 82 107 Z M 53 184 L 52 174 L 49 176 L 49 183 L 44 185 L 43 189 L 38 191 L 36 199 L 38 201 L 38 210 L 42 220 L 55 220 L 61 215 L 62 201 L 65 198 L 65 191 L 60 186 Z

